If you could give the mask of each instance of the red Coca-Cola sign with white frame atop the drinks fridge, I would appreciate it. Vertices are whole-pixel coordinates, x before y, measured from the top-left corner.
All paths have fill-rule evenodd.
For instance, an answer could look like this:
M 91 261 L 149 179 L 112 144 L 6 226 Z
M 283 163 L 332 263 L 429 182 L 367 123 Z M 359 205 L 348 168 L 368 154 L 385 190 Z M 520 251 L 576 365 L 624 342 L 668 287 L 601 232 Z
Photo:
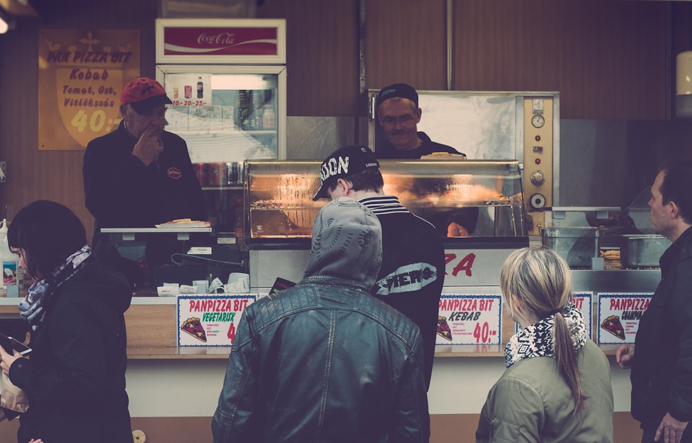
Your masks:
M 157 19 L 156 63 L 286 63 L 284 19 Z

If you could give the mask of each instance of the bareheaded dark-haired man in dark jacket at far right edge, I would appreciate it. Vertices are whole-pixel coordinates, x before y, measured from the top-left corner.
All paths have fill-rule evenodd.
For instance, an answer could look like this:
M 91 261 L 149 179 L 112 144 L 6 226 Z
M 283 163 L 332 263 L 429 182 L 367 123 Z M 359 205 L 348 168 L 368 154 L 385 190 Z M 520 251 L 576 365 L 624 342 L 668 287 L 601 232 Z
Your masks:
M 676 161 L 651 187 L 651 223 L 673 244 L 661 256 L 659 283 L 641 316 L 635 346 L 617 362 L 632 367 L 632 417 L 643 443 L 692 442 L 692 162 Z M 635 356 L 635 348 L 637 350 Z

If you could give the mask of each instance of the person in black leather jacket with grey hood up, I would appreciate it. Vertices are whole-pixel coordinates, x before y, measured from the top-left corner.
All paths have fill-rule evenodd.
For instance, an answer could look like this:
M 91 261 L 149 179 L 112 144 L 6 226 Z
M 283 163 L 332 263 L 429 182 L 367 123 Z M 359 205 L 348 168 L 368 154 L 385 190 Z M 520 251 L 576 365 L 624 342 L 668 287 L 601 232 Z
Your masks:
M 215 443 L 428 442 L 421 335 L 370 295 L 381 259 L 370 209 L 338 198 L 320 210 L 304 279 L 244 311 Z

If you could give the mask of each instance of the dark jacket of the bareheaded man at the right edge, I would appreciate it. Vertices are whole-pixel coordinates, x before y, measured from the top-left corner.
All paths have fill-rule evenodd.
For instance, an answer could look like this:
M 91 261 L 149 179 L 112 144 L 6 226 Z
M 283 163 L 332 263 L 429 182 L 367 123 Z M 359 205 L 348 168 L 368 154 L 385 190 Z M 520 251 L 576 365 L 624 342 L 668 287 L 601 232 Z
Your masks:
M 666 412 L 692 420 L 692 228 L 660 263 L 661 283 L 639 321 L 630 375 L 632 417 L 644 426 L 658 426 Z

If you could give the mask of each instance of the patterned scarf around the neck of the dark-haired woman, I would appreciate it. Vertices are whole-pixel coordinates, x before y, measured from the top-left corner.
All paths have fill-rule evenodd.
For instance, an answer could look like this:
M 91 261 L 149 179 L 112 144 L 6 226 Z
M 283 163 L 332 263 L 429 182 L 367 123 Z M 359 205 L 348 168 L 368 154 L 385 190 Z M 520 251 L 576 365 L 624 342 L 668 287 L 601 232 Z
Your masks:
M 66 258 L 49 276 L 29 287 L 26 297 L 19 302 L 19 315 L 29 322 L 31 330 L 35 332 L 43 324 L 46 318 L 46 305 L 55 294 L 55 290 L 80 272 L 90 256 L 91 248 L 84 245 L 82 249 Z

